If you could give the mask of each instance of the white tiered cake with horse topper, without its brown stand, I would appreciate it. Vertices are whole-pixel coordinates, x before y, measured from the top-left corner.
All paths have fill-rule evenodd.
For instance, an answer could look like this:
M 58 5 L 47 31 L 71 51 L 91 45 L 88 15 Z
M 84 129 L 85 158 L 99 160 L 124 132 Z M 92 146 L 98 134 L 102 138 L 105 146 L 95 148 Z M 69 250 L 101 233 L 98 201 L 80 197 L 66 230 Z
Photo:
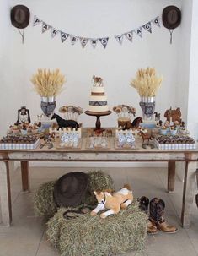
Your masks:
M 104 92 L 103 79 L 93 77 L 94 84 L 91 88 L 91 95 L 89 96 L 88 111 L 90 112 L 107 112 L 109 106 L 107 105 L 107 96 Z

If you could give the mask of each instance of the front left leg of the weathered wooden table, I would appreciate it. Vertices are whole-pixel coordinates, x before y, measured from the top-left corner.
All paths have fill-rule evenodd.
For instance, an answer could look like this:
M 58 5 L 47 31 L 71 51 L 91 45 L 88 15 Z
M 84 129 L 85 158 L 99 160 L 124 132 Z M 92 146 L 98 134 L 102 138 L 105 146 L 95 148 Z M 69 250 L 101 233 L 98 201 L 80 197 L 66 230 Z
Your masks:
M 12 205 L 10 193 L 9 163 L 0 161 L 0 202 L 3 225 L 10 226 L 12 222 Z

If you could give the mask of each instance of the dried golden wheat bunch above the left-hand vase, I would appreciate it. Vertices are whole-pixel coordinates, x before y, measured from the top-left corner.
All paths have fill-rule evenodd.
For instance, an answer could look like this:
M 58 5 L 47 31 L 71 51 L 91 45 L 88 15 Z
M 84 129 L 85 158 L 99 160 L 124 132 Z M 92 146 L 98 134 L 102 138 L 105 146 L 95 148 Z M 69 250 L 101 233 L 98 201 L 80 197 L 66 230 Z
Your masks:
M 60 70 L 41 69 L 37 70 L 31 78 L 35 85 L 35 91 L 42 97 L 52 97 L 62 92 L 62 86 L 66 82 L 65 76 Z

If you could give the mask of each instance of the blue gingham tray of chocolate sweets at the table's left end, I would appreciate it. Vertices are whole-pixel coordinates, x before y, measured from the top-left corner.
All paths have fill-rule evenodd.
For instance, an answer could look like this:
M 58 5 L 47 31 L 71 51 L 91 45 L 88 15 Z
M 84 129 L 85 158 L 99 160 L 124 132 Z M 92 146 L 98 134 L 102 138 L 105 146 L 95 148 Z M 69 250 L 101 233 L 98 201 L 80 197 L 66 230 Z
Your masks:
M 40 138 L 34 135 L 7 135 L 0 140 L 1 150 L 35 150 Z

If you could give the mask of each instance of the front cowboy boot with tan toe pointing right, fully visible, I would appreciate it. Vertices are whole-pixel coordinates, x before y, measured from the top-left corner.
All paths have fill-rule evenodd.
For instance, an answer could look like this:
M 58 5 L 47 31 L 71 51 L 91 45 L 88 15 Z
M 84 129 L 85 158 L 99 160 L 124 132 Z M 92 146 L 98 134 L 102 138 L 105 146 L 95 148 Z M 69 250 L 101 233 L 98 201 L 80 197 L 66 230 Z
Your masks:
M 165 203 L 162 199 L 154 198 L 150 201 L 150 218 L 149 220 L 157 227 L 158 230 L 166 233 L 175 233 L 177 228 L 169 225 L 163 218 Z

